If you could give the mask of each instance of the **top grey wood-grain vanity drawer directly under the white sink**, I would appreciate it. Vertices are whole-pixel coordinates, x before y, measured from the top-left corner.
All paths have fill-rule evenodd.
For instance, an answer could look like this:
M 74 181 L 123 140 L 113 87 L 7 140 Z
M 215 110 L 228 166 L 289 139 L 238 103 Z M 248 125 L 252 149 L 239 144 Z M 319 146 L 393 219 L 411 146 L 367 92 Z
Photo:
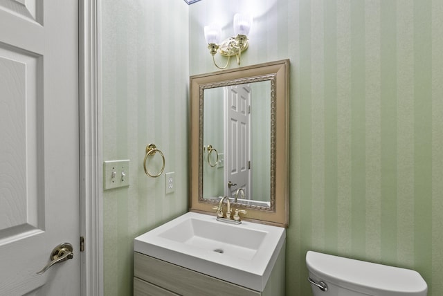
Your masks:
M 262 293 L 134 252 L 134 276 L 183 296 L 258 296 Z M 139 284 L 139 283 L 138 283 Z M 158 287 L 156 287 L 158 288 Z M 136 293 L 134 279 L 134 295 Z M 156 295 L 156 294 L 154 294 Z M 175 294 L 161 294 L 175 295 Z

